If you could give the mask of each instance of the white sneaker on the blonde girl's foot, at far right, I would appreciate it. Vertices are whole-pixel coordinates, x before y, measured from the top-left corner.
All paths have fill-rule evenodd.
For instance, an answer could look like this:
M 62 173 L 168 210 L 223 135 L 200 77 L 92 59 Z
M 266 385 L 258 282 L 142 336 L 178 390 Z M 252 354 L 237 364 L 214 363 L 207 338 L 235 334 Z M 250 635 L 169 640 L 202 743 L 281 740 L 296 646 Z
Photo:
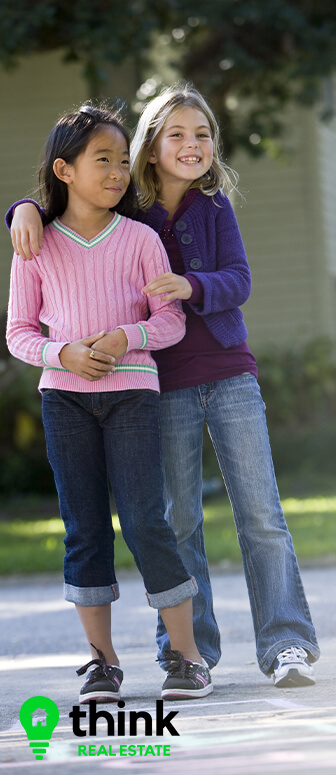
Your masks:
M 273 662 L 272 678 L 279 689 L 290 689 L 294 686 L 313 686 L 314 670 L 307 659 L 307 652 L 301 646 L 280 651 Z

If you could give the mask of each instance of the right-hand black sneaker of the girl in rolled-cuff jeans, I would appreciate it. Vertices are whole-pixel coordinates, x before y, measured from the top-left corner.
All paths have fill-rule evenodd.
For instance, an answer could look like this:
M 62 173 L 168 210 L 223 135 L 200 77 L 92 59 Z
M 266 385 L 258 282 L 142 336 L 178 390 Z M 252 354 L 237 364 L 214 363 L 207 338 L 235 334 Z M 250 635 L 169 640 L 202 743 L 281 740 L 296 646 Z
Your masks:
M 200 665 L 184 659 L 179 651 L 168 650 L 164 659 L 169 660 L 166 680 L 162 686 L 164 700 L 189 700 L 206 697 L 213 692 L 211 675 L 206 663 Z

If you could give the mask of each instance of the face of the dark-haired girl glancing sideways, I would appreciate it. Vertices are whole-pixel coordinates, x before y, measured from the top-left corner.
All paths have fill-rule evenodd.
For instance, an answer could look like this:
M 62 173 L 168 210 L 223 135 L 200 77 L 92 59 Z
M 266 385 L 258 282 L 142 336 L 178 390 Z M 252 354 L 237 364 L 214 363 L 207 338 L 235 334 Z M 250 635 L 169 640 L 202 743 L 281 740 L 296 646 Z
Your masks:
M 73 164 L 65 165 L 68 207 L 110 210 L 124 196 L 130 182 L 129 152 L 115 126 L 98 125 Z M 56 173 L 57 174 L 57 173 Z

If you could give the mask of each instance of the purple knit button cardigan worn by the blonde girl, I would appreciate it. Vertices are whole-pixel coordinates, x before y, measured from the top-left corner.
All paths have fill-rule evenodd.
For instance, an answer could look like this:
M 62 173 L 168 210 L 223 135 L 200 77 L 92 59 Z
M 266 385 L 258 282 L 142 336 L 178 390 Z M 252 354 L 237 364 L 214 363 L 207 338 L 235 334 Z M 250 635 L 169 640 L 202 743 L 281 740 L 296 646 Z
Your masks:
M 167 216 L 155 202 L 138 219 L 159 233 Z M 251 274 L 227 196 L 218 192 L 210 197 L 200 191 L 172 228 L 188 276 L 203 287 L 203 303 L 191 307 L 223 347 L 241 344 L 247 329 L 239 307 L 250 295 Z

